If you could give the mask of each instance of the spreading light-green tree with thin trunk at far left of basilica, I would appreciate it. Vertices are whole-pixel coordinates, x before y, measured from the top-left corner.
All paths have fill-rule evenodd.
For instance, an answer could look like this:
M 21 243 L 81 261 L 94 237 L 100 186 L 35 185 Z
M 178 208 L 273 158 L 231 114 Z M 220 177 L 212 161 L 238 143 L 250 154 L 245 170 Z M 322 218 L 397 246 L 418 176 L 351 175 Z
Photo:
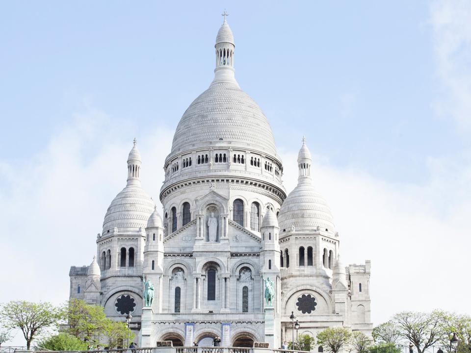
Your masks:
M 11 301 L 0 309 L 0 320 L 5 328 L 20 328 L 29 350 L 31 342 L 48 328 L 58 327 L 62 318 L 60 308 L 51 303 Z

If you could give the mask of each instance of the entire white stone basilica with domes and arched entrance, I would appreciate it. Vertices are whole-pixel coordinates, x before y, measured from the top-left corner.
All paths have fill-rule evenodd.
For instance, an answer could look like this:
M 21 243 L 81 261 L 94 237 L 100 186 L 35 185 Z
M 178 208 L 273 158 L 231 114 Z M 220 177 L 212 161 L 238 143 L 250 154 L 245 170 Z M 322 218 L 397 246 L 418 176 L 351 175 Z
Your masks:
M 370 262 L 341 263 L 340 236 L 313 185 L 304 138 L 298 184 L 287 196 L 272 130 L 235 80 L 234 57 L 224 20 L 214 79 L 184 112 L 165 159 L 163 209 L 141 185 L 141 163 L 152 161 L 141 160 L 134 140 L 126 186 L 106 211 L 96 256 L 70 269 L 70 298 L 102 305 L 114 320 L 131 314 L 140 347 L 208 347 L 220 337 L 225 347 L 279 348 L 296 334 L 341 326 L 370 336 Z M 144 298 L 148 285 L 152 297 Z

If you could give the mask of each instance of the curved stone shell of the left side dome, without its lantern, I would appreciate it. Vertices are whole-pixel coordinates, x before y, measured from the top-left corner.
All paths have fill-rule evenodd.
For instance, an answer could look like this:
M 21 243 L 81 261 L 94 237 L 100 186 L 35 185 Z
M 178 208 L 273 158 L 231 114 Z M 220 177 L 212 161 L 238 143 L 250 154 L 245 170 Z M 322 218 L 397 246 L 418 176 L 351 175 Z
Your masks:
M 139 184 L 126 185 L 114 198 L 103 221 L 103 235 L 117 228 L 139 228 L 147 225 L 155 203 Z

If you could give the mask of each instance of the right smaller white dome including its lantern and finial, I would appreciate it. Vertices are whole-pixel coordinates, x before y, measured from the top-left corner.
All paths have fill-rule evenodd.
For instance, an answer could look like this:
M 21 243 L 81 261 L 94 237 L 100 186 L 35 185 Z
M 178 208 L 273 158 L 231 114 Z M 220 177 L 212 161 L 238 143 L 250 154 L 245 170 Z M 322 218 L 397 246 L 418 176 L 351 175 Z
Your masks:
M 335 232 L 334 219 L 327 202 L 314 189 L 311 179 L 311 152 L 303 138 L 298 153 L 298 185 L 281 205 L 278 222 L 282 231 L 319 230 Z

